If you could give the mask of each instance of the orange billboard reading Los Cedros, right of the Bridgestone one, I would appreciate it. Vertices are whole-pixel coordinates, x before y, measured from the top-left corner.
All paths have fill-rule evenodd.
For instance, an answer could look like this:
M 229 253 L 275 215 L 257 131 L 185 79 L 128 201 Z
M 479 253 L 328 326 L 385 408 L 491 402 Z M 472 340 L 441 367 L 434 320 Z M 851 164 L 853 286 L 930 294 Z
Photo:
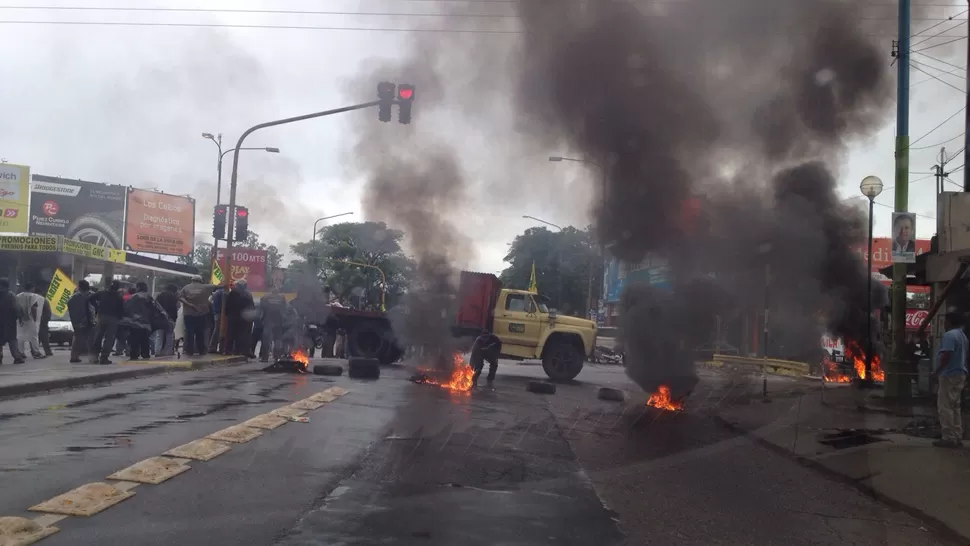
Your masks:
M 195 199 L 128 188 L 125 249 L 188 256 L 195 249 Z

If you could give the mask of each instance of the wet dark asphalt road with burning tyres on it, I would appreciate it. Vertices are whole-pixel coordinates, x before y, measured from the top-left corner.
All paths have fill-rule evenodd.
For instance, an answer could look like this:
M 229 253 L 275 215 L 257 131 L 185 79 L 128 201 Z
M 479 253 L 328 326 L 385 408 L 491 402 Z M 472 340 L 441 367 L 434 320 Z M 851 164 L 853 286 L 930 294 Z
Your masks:
M 941 544 L 892 511 L 709 415 L 760 380 L 703 371 L 689 411 L 596 399 L 632 388 L 590 366 L 552 396 L 503 362 L 494 391 L 450 394 L 256 365 L 0 401 L 0 516 L 337 385 L 350 393 L 90 518 L 46 545 Z M 772 379 L 772 392 L 799 389 Z M 766 405 L 765 423 L 790 411 Z

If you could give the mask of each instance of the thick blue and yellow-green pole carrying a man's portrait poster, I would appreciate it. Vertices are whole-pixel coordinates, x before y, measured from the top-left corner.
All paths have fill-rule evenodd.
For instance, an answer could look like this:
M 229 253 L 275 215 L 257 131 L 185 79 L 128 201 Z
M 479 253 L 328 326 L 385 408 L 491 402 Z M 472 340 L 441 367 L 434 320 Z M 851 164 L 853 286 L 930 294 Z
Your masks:
M 909 207 L 909 48 L 910 0 L 899 0 L 899 44 L 896 57 L 896 212 Z M 899 373 L 906 340 L 906 264 L 893 264 L 892 359 L 886 370 L 885 396 L 908 397 Z

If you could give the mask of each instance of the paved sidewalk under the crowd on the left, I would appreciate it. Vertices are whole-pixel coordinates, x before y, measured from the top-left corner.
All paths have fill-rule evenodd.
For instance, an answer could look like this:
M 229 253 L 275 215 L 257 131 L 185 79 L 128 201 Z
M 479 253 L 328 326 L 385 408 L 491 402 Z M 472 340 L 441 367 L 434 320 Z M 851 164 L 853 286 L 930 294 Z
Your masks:
M 88 364 L 86 361 L 84 364 L 71 364 L 69 359 L 70 353 L 65 350 L 55 350 L 54 356 L 41 360 L 27 357 L 25 364 L 12 364 L 7 355 L 0 366 L 0 398 L 246 361 L 244 357 L 223 355 L 153 358 L 134 362 L 129 362 L 125 357 L 112 357 L 113 364 L 106 365 Z

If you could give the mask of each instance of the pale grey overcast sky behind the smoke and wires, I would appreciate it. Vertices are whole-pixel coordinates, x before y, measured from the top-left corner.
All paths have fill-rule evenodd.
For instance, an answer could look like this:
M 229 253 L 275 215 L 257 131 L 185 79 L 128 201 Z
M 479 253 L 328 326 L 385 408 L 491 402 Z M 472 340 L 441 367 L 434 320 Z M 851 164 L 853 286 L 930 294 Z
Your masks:
M 713 0 L 712 0 L 713 1 Z M 727 1 L 727 0 L 725 0 Z M 815 1 L 815 0 L 806 0 Z M 873 17 L 895 17 L 886 0 L 867 4 Z M 440 0 L 267 0 L 202 1 L 153 0 L 105 2 L 61 0 L 18 2 L 19 5 L 69 7 L 142 6 L 213 10 L 311 10 L 433 14 Z M 926 4 L 913 56 L 910 159 L 910 210 L 920 214 L 917 235 L 935 231 L 934 179 L 929 177 L 940 147 L 951 159 L 947 170 L 962 184 L 964 80 L 967 33 L 966 4 L 957 0 L 915 0 Z M 0 6 L 13 5 L 0 2 Z M 486 5 L 488 4 L 488 5 Z M 952 4 L 952 7 L 947 7 Z M 511 15 L 509 2 L 472 1 L 469 10 L 488 15 Z M 871 9 L 870 9 L 871 8 Z M 867 12 L 868 13 L 868 12 Z M 947 17 L 957 16 L 952 22 Z M 462 22 L 416 15 L 364 16 L 227 12 L 124 12 L 94 10 L 24 10 L 0 8 L 0 158 L 29 165 L 33 173 L 97 182 L 189 193 L 198 200 L 196 231 L 207 240 L 211 207 L 215 202 L 216 147 L 202 132 L 222 133 L 229 149 L 246 127 L 275 118 L 372 100 L 372 86 L 351 89 L 348 82 L 375 58 L 394 58 L 407 48 L 411 35 L 388 29 L 471 28 L 515 29 L 512 18 L 483 17 Z M 11 21 L 45 22 L 11 24 Z M 71 22 L 141 22 L 233 25 L 173 27 L 124 25 L 62 25 Z M 961 22 L 962 21 L 962 22 Z M 941 24 L 938 24 L 941 23 Z M 243 25 L 319 27 L 246 28 Z M 936 25 L 936 26 L 934 26 Z M 933 26 L 924 34 L 920 31 Z M 367 28 L 382 30 L 364 30 Z M 952 29 L 952 30 L 951 30 Z M 930 36 L 935 36 L 930 38 Z M 496 48 L 511 47 L 514 34 L 479 35 Z M 892 58 L 892 35 L 885 43 L 886 63 Z M 945 44 L 946 42 L 953 42 Z M 938 44 L 945 44 L 939 45 Z M 927 47 L 930 49 L 925 49 Z M 420 89 L 414 124 L 421 124 Z M 952 119 L 944 122 L 947 118 Z M 275 146 L 280 154 L 244 152 L 241 156 L 239 203 L 252 211 L 251 228 L 288 254 L 289 245 L 306 240 L 316 218 L 355 212 L 363 219 L 360 198 L 363 181 L 348 165 L 354 124 L 379 123 L 376 112 L 347 114 L 261 131 L 247 146 Z M 942 123 L 942 125 L 940 125 Z M 939 126 L 939 127 L 937 127 Z M 466 131 L 460 123 L 435 125 L 442 137 L 460 151 L 469 177 L 476 166 L 521 166 L 520 180 L 484 180 L 459 229 L 477 244 L 477 259 L 467 264 L 497 272 L 512 238 L 535 222 L 530 214 L 551 222 L 577 226 L 589 222 L 591 175 L 577 163 L 549 163 L 551 151 L 524 155 L 502 134 Z M 425 129 L 427 126 L 424 127 Z M 396 123 L 387 131 L 407 130 Z M 887 191 L 877 203 L 877 236 L 889 235 L 893 203 L 894 118 L 882 131 L 852 146 L 841 166 L 842 192 L 859 195 L 863 177 L 881 177 Z M 511 129 L 510 129 L 511 131 Z M 932 131 L 932 132 L 931 132 Z M 928 133 L 928 134 L 927 134 Z M 924 136 L 925 135 L 925 136 Z M 420 151 L 416 150 L 416 153 Z M 961 152 L 961 153 L 957 153 Z M 531 153 L 531 152 L 530 152 Z M 562 150 L 567 155 L 568 150 Z M 231 156 L 227 156 L 231 157 Z M 229 167 L 224 172 L 228 195 Z M 523 188 L 521 199 L 490 201 L 489 188 Z M 947 184 L 949 189 L 957 189 Z M 542 191 L 526 191 L 526 188 Z M 494 191 L 494 190 L 493 190 Z M 582 197 L 582 198 L 577 198 Z

